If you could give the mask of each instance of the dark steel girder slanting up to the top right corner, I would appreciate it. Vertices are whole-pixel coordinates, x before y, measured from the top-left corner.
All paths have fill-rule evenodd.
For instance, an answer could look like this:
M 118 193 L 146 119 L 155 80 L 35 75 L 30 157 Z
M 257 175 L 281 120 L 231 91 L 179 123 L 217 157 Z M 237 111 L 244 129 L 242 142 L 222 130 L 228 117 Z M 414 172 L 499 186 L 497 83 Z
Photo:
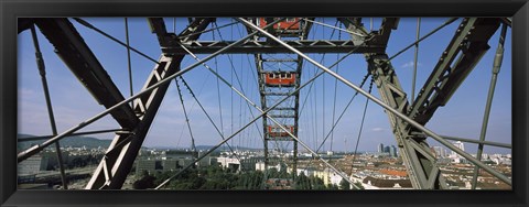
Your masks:
M 499 19 L 492 18 L 463 19 L 455 36 L 410 107 L 410 118 L 425 124 L 439 107 L 446 105 L 490 47 L 487 42 L 499 28 Z

